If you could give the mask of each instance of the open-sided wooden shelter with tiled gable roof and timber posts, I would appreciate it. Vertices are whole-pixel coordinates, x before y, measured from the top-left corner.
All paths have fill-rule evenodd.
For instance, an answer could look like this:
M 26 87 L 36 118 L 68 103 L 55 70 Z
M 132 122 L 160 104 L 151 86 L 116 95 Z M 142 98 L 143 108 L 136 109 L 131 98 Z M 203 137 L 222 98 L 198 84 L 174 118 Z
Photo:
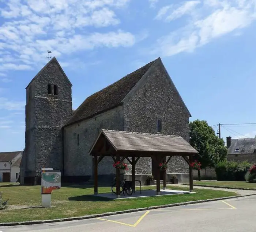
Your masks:
M 104 157 L 114 162 L 125 159 L 132 166 L 132 189 L 135 191 L 135 165 L 141 157 L 151 157 L 157 165 L 168 163 L 173 156 L 182 156 L 189 164 L 198 152 L 181 136 L 147 134 L 102 129 L 95 140 L 90 155 L 94 160 L 94 194 L 98 194 L 98 164 Z M 166 157 L 169 157 L 166 160 Z M 160 194 L 160 168 L 157 171 L 157 194 Z M 166 170 L 163 175 L 166 188 Z M 116 169 L 117 198 L 120 197 L 120 170 Z M 189 165 L 189 191 L 193 192 L 193 168 Z

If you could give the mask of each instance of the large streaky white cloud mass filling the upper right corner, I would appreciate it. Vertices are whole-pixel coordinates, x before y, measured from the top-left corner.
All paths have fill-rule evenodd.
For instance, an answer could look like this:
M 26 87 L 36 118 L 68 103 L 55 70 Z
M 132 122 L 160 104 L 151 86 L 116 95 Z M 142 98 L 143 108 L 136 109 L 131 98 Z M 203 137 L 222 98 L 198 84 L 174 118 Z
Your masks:
M 190 2 L 196 5 L 198 1 Z M 151 53 L 172 56 L 180 52 L 193 52 L 197 47 L 245 28 L 256 20 L 255 0 L 207 0 L 202 8 L 191 12 L 193 4 L 183 3 L 183 8 L 177 8 L 168 16 L 166 14 L 171 8 L 170 5 L 158 12 L 157 19 L 163 19 L 165 16 L 165 20 L 173 20 L 185 13 L 191 14 L 192 17 L 188 25 L 158 39 L 157 48 L 151 50 Z

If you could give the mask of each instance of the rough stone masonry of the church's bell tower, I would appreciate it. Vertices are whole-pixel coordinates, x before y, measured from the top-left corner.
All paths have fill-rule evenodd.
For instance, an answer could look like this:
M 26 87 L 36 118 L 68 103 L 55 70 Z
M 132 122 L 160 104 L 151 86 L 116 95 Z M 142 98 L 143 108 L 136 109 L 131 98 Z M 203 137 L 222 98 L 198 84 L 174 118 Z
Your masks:
M 48 94 L 48 84 L 58 86 L 57 95 Z M 62 171 L 61 127 L 72 115 L 72 96 L 71 84 L 55 61 L 30 83 L 27 101 L 26 129 L 33 133 L 26 134 L 26 175 L 34 176 L 43 166 Z

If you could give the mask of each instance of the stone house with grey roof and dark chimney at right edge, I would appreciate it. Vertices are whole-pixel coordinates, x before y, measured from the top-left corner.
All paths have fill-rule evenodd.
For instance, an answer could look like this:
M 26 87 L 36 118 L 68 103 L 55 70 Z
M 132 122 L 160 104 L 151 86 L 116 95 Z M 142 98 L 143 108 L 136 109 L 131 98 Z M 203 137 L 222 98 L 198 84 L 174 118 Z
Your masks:
M 227 137 L 227 160 L 256 163 L 256 138 Z

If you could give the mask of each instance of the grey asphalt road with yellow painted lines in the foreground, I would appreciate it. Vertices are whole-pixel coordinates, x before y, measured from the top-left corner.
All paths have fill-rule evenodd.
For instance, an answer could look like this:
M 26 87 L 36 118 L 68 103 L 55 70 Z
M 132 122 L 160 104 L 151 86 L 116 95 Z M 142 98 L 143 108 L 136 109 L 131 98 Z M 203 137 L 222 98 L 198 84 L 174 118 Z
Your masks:
M 0 227 L 3 232 L 256 231 L 256 196 L 61 223 Z

